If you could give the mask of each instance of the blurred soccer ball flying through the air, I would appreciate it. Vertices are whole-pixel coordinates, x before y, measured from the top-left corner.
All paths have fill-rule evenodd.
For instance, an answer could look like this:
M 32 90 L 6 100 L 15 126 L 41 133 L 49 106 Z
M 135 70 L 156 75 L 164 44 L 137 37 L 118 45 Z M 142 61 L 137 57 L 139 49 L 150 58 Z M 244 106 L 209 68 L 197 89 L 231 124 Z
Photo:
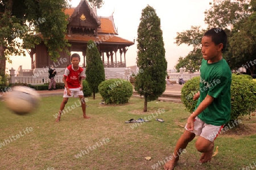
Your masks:
M 40 95 L 26 86 L 14 86 L 5 97 L 5 105 L 16 114 L 27 114 L 38 106 Z

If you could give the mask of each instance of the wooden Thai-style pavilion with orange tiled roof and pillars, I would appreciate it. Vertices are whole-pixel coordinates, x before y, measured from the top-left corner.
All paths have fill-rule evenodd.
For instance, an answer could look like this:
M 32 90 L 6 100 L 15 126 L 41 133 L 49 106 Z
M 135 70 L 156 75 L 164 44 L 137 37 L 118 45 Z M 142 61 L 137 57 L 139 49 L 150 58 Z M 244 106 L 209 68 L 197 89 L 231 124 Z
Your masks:
M 97 16 L 96 8 L 90 6 L 87 0 L 83 0 L 75 8 L 64 10 L 68 17 L 67 35 L 71 47 L 69 52 L 81 52 L 80 64 L 86 67 L 86 49 L 92 48 L 87 45 L 89 40 L 94 41 L 98 51 L 101 54 L 102 62 L 106 68 L 114 70 L 126 69 L 126 52 L 129 46 L 134 45 L 134 41 L 129 41 L 118 36 L 115 28 L 113 14 L 109 17 Z M 33 74 L 40 70 L 55 65 L 56 70 L 61 72 L 71 64 L 67 53 L 60 52 L 60 58 L 57 62 L 51 61 L 47 48 L 42 42 L 30 51 L 31 70 Z M 61 61 L 60 61 L 61 60 Z M 47 73 L 48 74 L 48 73 Z

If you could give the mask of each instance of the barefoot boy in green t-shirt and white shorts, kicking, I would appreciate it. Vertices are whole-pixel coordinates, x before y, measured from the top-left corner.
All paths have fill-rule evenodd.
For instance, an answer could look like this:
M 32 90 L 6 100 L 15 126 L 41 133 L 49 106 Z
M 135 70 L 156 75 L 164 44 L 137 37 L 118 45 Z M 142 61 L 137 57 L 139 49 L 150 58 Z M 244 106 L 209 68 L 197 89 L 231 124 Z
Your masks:
M 165 170 L 174 169 L 179 155 L 195 135 L 199 135 L 197 151 L 203 153 L 200 162 L 210 162 L 214 139 L 230 120 L 232 76 L 228 63 L 222 58 L 228 38 L 223 29 L 218 29 L 209 29 L 201 40 L 203 60 L 200 67 L 200 90 L 193 96 L 193 100 L 199 100 L 187 120 L 184 133 L 176 143 L 172 154 L 174 157 L 164 165 Z

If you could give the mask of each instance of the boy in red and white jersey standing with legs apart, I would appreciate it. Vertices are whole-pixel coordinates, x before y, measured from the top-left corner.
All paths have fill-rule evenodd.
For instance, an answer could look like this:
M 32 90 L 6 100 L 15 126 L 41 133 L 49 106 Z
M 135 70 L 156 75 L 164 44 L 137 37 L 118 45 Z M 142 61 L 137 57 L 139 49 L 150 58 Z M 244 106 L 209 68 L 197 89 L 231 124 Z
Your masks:
M 72 65 L 69 65 L 64 73 L 63 76 L 63 82 L 65 84 L 65 90 L 63 95 L 63 100 L 60 104 L 60 111 L 59 116 L 56 118 L 56 122 L 60 121 L 60 116 L 65 108 L 65 104 L 68 102 L 69 97 L 77 97 L 79 96 L 81 100 L 81 106 L 82 106 L 82 113 L 84 118 L 90 118 L 89 116 L 86 116 L 86 104 L 84 100 L 84 93 L 82 92 L 82 78 L 84 78 L 84 69 L 79 66 L 80 62 L 80 56 L 79 54 L 75 53 L 71 56 L 71 63 Z

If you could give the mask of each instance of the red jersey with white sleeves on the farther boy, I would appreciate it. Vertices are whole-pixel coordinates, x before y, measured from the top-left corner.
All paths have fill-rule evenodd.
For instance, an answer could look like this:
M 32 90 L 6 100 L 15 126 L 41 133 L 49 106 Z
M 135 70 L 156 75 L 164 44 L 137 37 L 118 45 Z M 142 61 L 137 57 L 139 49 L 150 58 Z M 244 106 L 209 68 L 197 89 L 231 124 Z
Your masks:
M 84 69 L 79 67 L 79 69 L 74 70 L 73 65 L 69 65 L 65 70 L 64 76 L 66 78 L 68 88 L 79 88 L 79 79 L 84 77 Z

